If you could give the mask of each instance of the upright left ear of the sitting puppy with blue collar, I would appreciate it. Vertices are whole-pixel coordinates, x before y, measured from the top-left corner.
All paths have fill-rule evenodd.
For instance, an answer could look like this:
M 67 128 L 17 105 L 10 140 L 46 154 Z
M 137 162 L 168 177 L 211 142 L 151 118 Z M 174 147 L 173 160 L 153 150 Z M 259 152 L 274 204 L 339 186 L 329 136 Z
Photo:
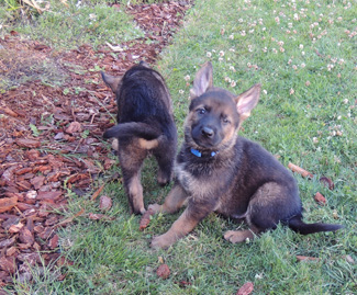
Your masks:
M 213 86 L 213 67 L 211 61 L 205 63 L 196 73 L 193 87 L 190 90 L 190 99 L 202 95 L 210 87 Z

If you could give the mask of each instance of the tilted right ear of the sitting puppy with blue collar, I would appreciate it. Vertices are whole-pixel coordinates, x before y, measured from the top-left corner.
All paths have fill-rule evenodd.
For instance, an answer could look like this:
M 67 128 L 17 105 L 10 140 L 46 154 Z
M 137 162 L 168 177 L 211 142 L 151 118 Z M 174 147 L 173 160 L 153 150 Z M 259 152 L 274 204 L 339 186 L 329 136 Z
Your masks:
M 257 105 L 260 97 L 260 84 L 255 84 L 235 99 L 241 123 L 250 115 L 250 111 Z

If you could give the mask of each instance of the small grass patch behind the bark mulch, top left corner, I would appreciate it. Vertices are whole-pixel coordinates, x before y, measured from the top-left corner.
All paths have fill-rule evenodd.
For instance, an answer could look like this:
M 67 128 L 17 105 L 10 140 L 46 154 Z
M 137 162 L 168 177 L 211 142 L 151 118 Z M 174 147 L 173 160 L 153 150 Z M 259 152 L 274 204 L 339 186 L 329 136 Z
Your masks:
M 2 30 L 0 27 L 0 33 L 13 30 L 56 48 L 72 48 L 81 44 L 97 47 L 105 42 L 120 44 L 144 36 L 133 18 L 125 13 L 125 5 L 120 9 L 109 7 L 102 0 L 78 2 L 68 0 L 65 5 L 51 0 L 46 2 L 48 9 L 41 5 L 44 9 L 41 14 L 34 9 L 29 11 L 26 7 L 25 16 L 16 15 L 21 9 L 15 9 L 14 3 L 4 5 L 0 16 L 8 22 L 2 25 Z M 12 22 L 9 24 L 10 20 Z

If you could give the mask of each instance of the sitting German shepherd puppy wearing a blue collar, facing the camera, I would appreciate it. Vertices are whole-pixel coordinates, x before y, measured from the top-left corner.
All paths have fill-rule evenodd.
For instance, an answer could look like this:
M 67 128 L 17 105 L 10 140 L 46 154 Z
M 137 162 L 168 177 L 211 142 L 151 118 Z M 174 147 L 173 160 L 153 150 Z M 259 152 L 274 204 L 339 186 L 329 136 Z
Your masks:
M 175 166 L 176 183 L 165 203 L 149 209 L 175 213 L 185 203 L 187 207 L 166 234 L 152 240 L 153 248 L 168 248 L 211 212 L 246 220 L 249 229 L 225 232 L 233 243 L 274 229 L 279 222 L 302 235 L 342 227 L 303 223 L 291 173 L 261 146 L 237 136 L 259 94 L 260 84 L 239 95 L 214 88 L 211 63 L 198 71 Z

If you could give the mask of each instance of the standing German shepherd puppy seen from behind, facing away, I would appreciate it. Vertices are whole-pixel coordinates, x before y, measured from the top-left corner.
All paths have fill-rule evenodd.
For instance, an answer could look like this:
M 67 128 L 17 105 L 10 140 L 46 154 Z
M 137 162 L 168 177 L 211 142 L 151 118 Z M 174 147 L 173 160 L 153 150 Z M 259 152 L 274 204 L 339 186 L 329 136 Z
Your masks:
M 172 102 L 160 73 L 142 61 L 123 77 L 101 72 L 116 95 L 118 124 L 103 137 L 115 137 L 131 213 L 145 213 L 141 167 L 148 155 L 158 163 L 160 185 L 171 180 L 177 146 Z

